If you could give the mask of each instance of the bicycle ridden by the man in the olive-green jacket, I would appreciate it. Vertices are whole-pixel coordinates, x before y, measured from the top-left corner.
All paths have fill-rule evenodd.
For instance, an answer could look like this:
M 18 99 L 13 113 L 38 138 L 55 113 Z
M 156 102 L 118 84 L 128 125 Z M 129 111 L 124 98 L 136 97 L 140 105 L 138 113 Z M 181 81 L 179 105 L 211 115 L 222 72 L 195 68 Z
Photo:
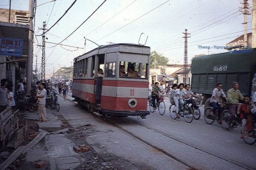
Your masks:
M 226 103 L 224 103 L 226 104 Z M 238 111 L 236 112 L 235 114 L 235 118 L 234 120 L 231 122 L 231 129 L 236 129 L 238 124 L 241 122 L 240 118 L 239 118 L 239 107 L 241 106 L 242 103 L 238 103 Z M 221 125 L 222 125 L 222 128 L 225 130 L 225 131 L 228 131 L 229 130 L 229 125 L 228 125 L 228 122 L 230 120 L 230 117 L 231 117 L 231 112 L 228 108 L 225 108 L 224 111 L 222 112 L 221 114 Z

